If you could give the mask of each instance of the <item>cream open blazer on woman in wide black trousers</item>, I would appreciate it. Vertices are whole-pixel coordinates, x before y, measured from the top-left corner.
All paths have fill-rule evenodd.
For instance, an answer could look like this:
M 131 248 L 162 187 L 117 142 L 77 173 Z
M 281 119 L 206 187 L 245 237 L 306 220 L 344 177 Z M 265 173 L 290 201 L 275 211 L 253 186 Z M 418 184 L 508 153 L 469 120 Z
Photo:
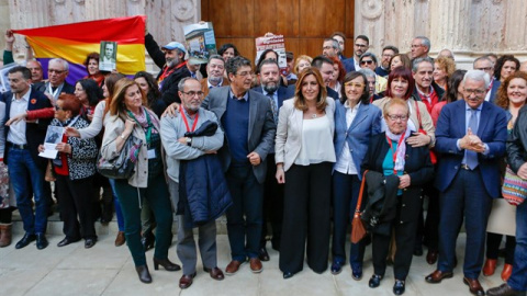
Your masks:
M 302 122 L 304 113 L 294 107 L 294 98 L 283 101 L 278 116 L 277 139 L 274 141 L 274 161 L 283 163 L 287 171 L 294 163 L 302 147 Z M 327 96 L 326 116 L 332 124 L 332 135 L 335 132 L 335 101 Z M 333 143 L 332 143 L 332 149 Z

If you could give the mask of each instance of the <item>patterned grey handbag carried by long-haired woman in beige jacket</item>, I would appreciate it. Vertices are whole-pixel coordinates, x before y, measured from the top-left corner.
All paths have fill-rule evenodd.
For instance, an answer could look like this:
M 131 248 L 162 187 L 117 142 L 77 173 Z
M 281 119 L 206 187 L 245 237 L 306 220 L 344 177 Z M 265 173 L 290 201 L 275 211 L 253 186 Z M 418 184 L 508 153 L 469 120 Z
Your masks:
M 121 153 L 114 159 L 105 159 L 99 152 L 97 170 L 109 179 L 130 179 L 135 172 L 143 140 L 130 135 L 121 149 Z

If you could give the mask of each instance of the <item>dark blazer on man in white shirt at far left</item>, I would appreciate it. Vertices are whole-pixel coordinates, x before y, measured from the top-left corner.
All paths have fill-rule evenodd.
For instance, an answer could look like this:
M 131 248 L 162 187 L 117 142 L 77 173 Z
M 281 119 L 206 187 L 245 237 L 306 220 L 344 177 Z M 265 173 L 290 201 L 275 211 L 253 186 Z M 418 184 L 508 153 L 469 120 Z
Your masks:
M 1 100 L 5 102 L 5 117 L 4 121 L 2 122 L 2 125 L 5 126 L 5 123 L 9 121 L 10 116 L 9 113 L 11 111 L 11 101 L 13 99 L 13 93 L 11 91 L 7 91 L 1 94 L 2 98 Z M 27 102 L 27 110 L 38 110 L 38 109 L 45 109 L 45 107 L 52 107 L 52 103 L 49 102 L 49 99 L 47 96 L 35 90 L 34 88 L 31 88 L 31 93 L 30 93 L 30 102 Z M 37 123 L 26 123 L 25 125 L 25 139 L 27 141 L 27 147 L 30 149 L 30 153 L 33 157 L 33 160 L 36 162 L 37 166 L 41 168 L 46 168 L 47 164 L 47 159 L 38 157 L 38 145 L 44 143 L 44 138 L 46 137 L 46 132 L 47 132 L 47 126 L 52 122 L 52 118 L 49 119 L 38 119 Z M 4 137 L 5 141 L 8 140 L 8 134 L 9 134 L 9 126 L 4 127 Z M 8 153 L 9 149 L 8 146 L 5 146 L 5 152 L 3 153 L 3 162 L 7 164 L 8 163 Z

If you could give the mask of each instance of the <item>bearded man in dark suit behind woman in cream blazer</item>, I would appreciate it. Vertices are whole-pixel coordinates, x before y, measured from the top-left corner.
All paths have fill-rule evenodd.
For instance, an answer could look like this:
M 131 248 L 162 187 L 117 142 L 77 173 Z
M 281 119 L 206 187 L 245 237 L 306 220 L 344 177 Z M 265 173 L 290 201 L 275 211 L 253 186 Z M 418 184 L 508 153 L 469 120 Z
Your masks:
M 283 101 L 294 96 L 294 88 L 280 86 L 280 68 L 273 59 L 265 59 L 258 69 L 260 86 L 253 90 L 262 93 L 269 98 L 271 104 L 274 124 L 278 124 L 278 112 Z M 280 250 L 280 236 L 282 232 L 283 215 L 283 184 L 278 184 L 274 174 L 277 164 L 274 163 L 274 149 L 267 156 L 267 178 L 264 193 L 264 227 L 261 231 L 260 250 L 258 257 L 261 261 L 269 261 L 269 253 L 266 249 L 267 221 L 272 227 L 272 249 Z

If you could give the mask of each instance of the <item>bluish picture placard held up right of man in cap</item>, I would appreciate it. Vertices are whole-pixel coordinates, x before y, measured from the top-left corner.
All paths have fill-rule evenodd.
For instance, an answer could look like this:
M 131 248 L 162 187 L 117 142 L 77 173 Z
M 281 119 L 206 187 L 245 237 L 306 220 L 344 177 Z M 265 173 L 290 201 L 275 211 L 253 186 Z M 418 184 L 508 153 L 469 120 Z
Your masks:
M 189 49 L 189 62 L 192 65 L 206 64 L 209 57 L 217 53 L 211 22 L 186 25 L 183 33 Z

